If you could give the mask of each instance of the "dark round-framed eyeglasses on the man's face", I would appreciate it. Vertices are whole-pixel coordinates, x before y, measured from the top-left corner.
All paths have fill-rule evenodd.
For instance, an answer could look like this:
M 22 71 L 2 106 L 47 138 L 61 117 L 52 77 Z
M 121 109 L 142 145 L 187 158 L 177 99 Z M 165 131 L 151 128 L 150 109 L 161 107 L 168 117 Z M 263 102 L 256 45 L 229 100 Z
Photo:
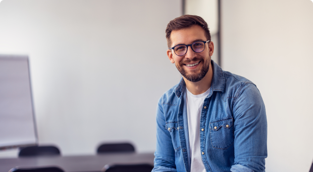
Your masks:
M 201 53 L 203 52 L 204 48 L 205 48 L 205 43 L 206 42 L 210 42 L 210 40 L 207 41 L 195 41 L 192 44 L 189 45 L 184 45 L 184 44 L 179 44 L 177 46 L 174 46 L 172 48 L 169 48 L 171 50 L 174 50 L 175 54 L 177 56 L 183 56 L 187 53 L 188 51 L 188 46 L 191 47 L 192 51 L 196 52 L 196 53 Z

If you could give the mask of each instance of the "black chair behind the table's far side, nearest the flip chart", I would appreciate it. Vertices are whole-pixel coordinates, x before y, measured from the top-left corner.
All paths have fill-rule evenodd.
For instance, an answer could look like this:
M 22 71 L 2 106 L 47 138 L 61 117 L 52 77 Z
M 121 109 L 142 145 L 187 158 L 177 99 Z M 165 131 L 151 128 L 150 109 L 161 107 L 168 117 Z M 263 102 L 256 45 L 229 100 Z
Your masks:
M 60 155 L 60 150 L 55 146 L 29 146 L 22 148 L 19 157 Z

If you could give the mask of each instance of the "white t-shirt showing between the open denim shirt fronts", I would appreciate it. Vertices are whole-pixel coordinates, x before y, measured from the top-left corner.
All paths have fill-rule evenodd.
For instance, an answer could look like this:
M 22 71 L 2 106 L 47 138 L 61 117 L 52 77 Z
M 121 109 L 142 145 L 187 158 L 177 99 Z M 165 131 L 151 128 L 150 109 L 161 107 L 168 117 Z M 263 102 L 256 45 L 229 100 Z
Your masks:
M 193 95 L 186 88 L 186 103 L 188 116 L 189 146 L 191 156 L 191 172 L 205 172 L 200 149 L 200 115 L 204 99 L 210 89 L 200 95 Z

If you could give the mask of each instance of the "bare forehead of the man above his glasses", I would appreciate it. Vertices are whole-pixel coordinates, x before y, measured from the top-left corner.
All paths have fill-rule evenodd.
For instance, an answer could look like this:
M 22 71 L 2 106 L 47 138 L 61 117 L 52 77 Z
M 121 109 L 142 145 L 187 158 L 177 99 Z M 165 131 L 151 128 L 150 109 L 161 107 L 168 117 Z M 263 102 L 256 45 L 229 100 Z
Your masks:
M 197 39 L 203 39 L 203 41 L 206 41 L 204 29 L 202 29 L 199 25 L 173 30 L 171 33 L 171 46 L 173 47 L 178 44 L 191 44 Z

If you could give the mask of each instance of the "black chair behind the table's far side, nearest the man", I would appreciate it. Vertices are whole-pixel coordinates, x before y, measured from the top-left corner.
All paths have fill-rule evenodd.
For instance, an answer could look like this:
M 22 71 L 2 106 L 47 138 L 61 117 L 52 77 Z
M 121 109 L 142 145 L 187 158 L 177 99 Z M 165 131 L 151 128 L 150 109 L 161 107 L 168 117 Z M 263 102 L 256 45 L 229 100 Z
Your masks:
M 135 152 L 135 148 L 130 143 L 112 143 L 112 144 L 102 144 L 97 149 L 97 153 L 113 153 L 113 152 Z

